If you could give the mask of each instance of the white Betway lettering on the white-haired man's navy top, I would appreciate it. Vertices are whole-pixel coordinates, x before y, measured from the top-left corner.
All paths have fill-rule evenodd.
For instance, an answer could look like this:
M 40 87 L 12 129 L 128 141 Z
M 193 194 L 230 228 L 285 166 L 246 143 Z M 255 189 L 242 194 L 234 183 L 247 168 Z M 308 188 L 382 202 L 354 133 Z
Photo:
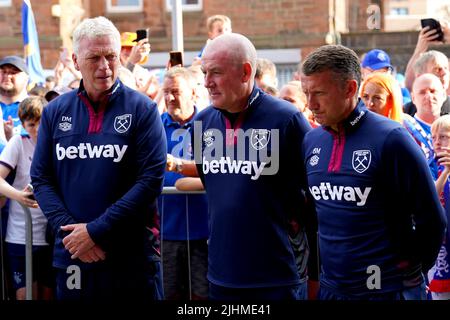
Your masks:
M 91 145 L 90 143 L 80 143 L 78 146 L 61 147 L 56 145 L 56 158 L 58 160 L 67 159 L 94 159 L 112 158 L 114 162 L 120 162 L 128 146 L 118 144 Z

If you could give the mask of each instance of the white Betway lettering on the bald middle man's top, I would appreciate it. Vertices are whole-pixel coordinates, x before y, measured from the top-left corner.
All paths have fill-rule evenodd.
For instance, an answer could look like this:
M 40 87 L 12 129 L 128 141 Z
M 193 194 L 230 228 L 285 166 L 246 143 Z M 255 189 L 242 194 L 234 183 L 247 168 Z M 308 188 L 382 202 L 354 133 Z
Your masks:
M 257 180 L 264 170 L 266 162 L 261 162 L 258 166 L 256 161 L 231 160 L 230 157 L 221 157 L 220 160 L 206 160 L 203 157 L 203 173 L 236 173 L 251 175 L 252 180 Z

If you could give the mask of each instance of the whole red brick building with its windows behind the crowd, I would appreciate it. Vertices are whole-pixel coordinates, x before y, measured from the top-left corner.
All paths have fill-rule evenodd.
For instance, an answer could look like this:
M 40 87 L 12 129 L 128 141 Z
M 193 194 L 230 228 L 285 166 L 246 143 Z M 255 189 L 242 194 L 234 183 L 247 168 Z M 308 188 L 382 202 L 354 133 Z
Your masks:
M 111 19 L 121 32 L 149 27 L 152 45 L 149 66 L 163 66 L 167 51 L 172 49 L 171 1 L 31 0 L 44 68 L 53 68 L 59 47 L 67 43 L 70 30 L 80 19 L 98 15 Z M 213 14 L 229 16 L 233 31 L 248 36 L 259 56 L 272 59 L 281 77 L 283 73 L 289 77 L 301 57 L 317 46 L 342 42 L 352 47 L 357 41 L 357 50 L 364 51 L 377 45 L 373 41 L 364 45 L 365 39 L 378 39 L 373 36 L 383 34 L 380 32 L 384 23 L 383 0 L 181 1 L 187 64 L 204 45 L 206 19 Z M 21 4 L 21 0 L 0 0 L 0 56 L 22 54 Z M 373 5 L 378 8 L 378 16 L 369 10 Z M 412 52 L 416 33 L 397 38 L 399 46 L 406 39 L 404 51 Z

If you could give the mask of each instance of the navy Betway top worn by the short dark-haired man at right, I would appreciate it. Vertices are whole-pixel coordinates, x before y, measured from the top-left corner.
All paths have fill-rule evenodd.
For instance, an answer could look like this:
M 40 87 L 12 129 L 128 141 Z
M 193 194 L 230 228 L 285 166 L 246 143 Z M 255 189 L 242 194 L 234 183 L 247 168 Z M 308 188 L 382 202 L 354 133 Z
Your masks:
M 446 218 L 408 132 L 360 103 L 339 132 L 308 132 L 303 150 L 318 216 L 321 286 L 363 297 L 419 285 L 436 259 Z M 375 288 L 369 277 L 378 270 Z

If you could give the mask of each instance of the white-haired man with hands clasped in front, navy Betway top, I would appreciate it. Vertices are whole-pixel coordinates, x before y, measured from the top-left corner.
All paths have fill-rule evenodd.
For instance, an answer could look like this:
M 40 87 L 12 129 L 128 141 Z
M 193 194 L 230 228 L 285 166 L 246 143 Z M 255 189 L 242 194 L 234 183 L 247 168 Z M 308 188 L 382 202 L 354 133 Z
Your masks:
M 154 299 L 152 213 L 166 140 L 156 104 L 118 80 L 120 35 L 104 17 L 73 33 L 80 88 L 42 114 L 31 167 L 54 235 L 58 299 Z

